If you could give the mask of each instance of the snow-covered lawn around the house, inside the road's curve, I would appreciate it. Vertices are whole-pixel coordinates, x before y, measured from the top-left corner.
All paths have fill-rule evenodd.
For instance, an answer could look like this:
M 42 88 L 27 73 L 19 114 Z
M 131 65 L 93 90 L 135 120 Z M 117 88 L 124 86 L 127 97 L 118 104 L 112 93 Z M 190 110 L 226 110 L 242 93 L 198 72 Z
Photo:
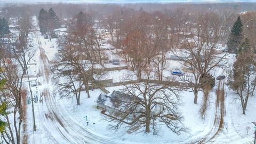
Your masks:
M 107 87 L 107 90 L 110 92 L 114 90 L 123 89 L 122 86 L 116 87 Z M 94 102 L 98 98 L 99 94 L 102 93 L 101 90 L 96 89 L 94 91 L 90 90 L 91 98 L 87 98 L 86 92 L 82 92 L 81 95 L 81 105 L 77 106 L 74 101 L 70 99 L 61 99 L 63 106 L 67 109 L 68 113 L 76 119 L 79 123 L 83 125 L 86 124 L 86 116 L 89 121 L 89 127 L 91 130 L 110 137 L 113 140 L 121 140 L 125 143 L 166 143 L 166 142 L 179 142 L 183 141 L 185 138 L 189 139 L 193 135 L 201 133 L 204 131 L 207 125 L 211 124 L 210 115 L 209 118 L 206 116 L 205 124 L 203 119 L 198 116 L 198 111 L 200 105 L 195 105 L 193 103 L 194 96 L 193 92 L 181 91 L 180 95 L 183 99 L 183 105 L 180 107 L 180 110 L 183 114 L 183 123 L 187 128 L 187 132 L 183 132 L 181 135 L 174 134 L 171 132 L 165 125 L 158 125 L 158 135 L 153 135 L 153 133 L 146 134 L 143 129 L 141 133 L 126 133 L 126 128 L 123 126 L 120 130 L 111 129 L 111 125 L 114 125 L 113 122 L 108 122 L 105 120 L 105 115 L 100 113 L 101 109 L 97 109 L 97 103 Z M 198 103 L 202 101 L 202 92 L 199 92 Z M 210 107 L 209 110 L 214 110 L 214 107 Z M 94 124 L 93 124 L 94 123 Z M 210 125 L 209 125 L 210 126 Z

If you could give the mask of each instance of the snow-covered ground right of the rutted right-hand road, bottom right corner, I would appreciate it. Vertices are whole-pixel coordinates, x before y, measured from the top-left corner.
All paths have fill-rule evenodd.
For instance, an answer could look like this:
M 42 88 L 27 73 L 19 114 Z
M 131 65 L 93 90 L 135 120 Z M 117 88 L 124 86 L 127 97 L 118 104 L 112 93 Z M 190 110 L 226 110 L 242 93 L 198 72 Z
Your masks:
M 252 122 L 256 121 L 255 102 L 256 97 L 254 94 L 249 97 L 245 115 L 243 115 L 241 101 L 238 100 L 238 95 L 234 91 L 227 89 L 226 124 L 229 130 L 227 131 L 227 137 L 223 137 L 222 139 L 230 143 L 253 142 L 255 129 Z

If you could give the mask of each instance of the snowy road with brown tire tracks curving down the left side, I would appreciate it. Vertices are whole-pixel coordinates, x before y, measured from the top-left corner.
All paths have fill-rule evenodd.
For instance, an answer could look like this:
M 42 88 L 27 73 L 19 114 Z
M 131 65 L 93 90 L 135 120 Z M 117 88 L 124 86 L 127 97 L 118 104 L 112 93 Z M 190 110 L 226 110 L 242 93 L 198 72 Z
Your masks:
M 39 35 L 38 32 L 37 36 Z M 44 86 L 43 103 L 39 111 L 49 132 L 51 132 L 52 135 L 58 135 L 55 132 L 59 132 L 59 135 L 62 137 L 55 138 L 59 143 L 115 143 L 90 131 L 86 126 L 80 125 L 64 110 L 61 103 L 52 92 L 49 61 L 39 39 L 38 44 L 40 51 L 39 65 L 41 67 L 40 71 L 43 74 L 42 85 Z

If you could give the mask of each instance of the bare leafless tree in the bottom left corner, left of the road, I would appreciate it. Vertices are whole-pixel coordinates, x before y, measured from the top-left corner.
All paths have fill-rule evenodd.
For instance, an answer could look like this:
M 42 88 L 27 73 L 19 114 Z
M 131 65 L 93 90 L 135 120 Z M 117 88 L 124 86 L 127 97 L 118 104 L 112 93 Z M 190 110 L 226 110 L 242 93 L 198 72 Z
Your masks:
M 0 60 L 0 67 L 3 69 L 0 78 L 5 79 L 6 83 L 0 92 L 0 101 L 7 102 L 9 113 L 4 115 L 6 121 L 6 129 L 2 133 L 5 142 L 21 143 L 21 124 L 24 119 L 23 107 L 26 103 L 22 103 L 22 81 L 18 75 L 19 69 L 15 63 L 7 59 Z M 12 113 L 12 114 L 11 114 Z M 11 115 L 9 115 L 11 114 Z M 12 119 L 12 120 L 11 120 Z

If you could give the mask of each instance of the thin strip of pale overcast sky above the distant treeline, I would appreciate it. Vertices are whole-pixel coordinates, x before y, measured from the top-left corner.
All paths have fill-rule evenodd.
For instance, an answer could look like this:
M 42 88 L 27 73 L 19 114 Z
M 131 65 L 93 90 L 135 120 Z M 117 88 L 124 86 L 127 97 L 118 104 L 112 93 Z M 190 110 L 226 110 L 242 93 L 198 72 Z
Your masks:
M 0 0 L 1 2 L 36 3 L 36 2 L 65 2 L 65 3 L 182 3 L 182 2 L 256 2 L 256 0 Z

